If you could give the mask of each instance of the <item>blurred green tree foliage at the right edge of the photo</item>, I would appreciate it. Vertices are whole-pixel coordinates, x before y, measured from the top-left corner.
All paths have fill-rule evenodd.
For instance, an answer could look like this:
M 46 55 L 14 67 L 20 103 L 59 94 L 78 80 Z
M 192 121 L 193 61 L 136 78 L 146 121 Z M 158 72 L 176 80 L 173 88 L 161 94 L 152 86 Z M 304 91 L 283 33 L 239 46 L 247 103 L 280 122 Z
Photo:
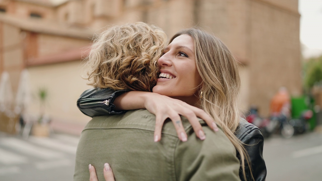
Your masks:
M 305 87 L 311 89 L 322 82 L 322 56 L 311 58 L 304 67 Z

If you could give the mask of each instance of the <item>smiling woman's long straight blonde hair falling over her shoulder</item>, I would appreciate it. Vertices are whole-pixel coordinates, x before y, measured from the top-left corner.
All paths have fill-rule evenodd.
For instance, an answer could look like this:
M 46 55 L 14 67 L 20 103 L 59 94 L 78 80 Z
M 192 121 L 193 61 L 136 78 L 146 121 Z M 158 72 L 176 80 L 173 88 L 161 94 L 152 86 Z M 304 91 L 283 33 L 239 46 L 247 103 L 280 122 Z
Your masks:
M 242 115 L 239 107 L 241 81 L 238 63 L 220 39 L 196 27 L 178 32 L 170 43 L 182 34 L 188 34 L 194 40 L 196 66 L 203 80 L 199 88 L 199 92 L 203 92 L 199 107 L 223 128 L 239 152 L 246 180 L 245 159 L 248 167 L 251 167 L 248 154 L 242 142 L 234 135 Z

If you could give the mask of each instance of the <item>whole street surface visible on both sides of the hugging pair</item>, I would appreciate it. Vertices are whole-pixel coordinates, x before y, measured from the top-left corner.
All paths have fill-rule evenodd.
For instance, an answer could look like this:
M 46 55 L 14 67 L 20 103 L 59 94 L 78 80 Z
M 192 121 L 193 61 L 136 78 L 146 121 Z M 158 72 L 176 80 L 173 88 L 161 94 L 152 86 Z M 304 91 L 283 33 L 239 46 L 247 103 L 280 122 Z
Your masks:
M 0 180 L 71 181 L 78 140 L 66 134 L 23 139 L 0 132 Z M 264 159 L 266 181 L 321 181 L 322 134 L 273 135 L 265 140 Z

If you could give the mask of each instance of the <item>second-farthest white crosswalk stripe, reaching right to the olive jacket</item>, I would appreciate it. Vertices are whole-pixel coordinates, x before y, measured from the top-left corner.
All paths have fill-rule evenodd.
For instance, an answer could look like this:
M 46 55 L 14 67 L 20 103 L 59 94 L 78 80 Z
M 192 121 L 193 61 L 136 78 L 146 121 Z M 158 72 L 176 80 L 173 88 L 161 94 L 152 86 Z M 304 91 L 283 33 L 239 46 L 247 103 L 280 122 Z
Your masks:
M 37 138 L 37 137 L 29 137 L 28 140 L 30 142 L 33 142 L 41 146 L 54 148 L 71 154 L 76 154 L 76 149 L 77 149 L 76 146 L 63 144 L 59 140 L 55 140 L 52 138 Z

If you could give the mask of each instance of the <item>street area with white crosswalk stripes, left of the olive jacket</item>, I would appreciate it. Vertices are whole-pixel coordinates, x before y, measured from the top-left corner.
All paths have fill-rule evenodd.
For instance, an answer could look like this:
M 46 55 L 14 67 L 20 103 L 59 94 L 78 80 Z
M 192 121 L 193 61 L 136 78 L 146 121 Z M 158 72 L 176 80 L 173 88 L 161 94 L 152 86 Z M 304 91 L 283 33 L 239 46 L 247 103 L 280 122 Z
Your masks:
M 25 140 L 0 132 L 0 180 L 71 181 L 78 140 L 65 134 Z

